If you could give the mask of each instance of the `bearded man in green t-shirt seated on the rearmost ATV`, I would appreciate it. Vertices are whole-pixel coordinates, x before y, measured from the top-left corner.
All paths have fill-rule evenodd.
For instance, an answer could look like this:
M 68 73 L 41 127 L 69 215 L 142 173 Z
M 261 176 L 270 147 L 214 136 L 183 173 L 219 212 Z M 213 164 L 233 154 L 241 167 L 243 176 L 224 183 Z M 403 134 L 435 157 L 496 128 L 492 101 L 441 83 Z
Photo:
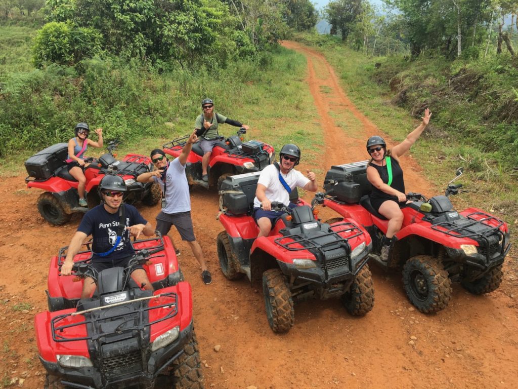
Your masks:
M 205 182 L 209 181 L 207 175 L 207 166 L 209 164 L 209 158 L 212 154 L 212 148 L 218 142 L 218 124 L 227 123 L 232 126 L 242 127 L 248 131 L 248 126 L 242 124 L 239 121 L 228 119 L 223 115 L 214 112 L 214 102 L 211 99 L 204 99 L 202 101 L 203 114 L 196 118 L 194 123 L 194 129 L 196 135 L 200 138 L 199 145 L 203 150 L 202 159 L 202 179 Z

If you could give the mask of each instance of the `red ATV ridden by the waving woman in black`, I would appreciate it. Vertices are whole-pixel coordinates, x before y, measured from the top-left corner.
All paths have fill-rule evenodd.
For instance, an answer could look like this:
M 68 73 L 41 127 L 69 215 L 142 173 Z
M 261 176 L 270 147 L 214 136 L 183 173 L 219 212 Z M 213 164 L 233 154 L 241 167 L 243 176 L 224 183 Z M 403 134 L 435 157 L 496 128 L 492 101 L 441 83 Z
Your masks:
M 421 312 L 438 312 L 451 299 L 452 281 L 460 281 L 470 293 L 482 295 L 498 288 L 502 263 L 511 248 L 507 224 L 476 208 L 453 209 L 450 195 L 462 184 L 448 184 L 444 196 L 430 199 L 408 193 L 402 206 L 401 230 L 391 245 L 389 260 L 380 260 L 381 237 L 388 221 L 370 204 L 368 161 L 332 166 L 324 180 L 324 206 L 363 225 L 373 241 L 371 258 L 385 269 L 403 270 L 408 298 Z M 341 219 L 341 218 L 340 218 Z

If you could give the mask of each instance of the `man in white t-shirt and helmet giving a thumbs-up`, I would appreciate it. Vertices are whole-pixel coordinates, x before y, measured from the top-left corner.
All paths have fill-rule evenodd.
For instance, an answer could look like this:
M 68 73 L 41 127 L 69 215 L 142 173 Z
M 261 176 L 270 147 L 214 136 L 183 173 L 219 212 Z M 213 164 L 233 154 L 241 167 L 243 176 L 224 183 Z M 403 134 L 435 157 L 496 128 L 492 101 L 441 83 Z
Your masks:
M 282 202 L 293 208 L 290 193 L 296 187 L 316 192 L 316 175 L 307 170 L 307 177 L 293 169 L 300 162 L 300 149 L 293 144 L 284 145 L 279 154 L 280 163 L 266 166 L 257 181 L 254 199 L 254 218 L 259 226 L 257 237 L 267 237 L 272 226 L 283 214 L 271 210 L 272 202 Z M 261 209 L 262 204 L 262 209 Z

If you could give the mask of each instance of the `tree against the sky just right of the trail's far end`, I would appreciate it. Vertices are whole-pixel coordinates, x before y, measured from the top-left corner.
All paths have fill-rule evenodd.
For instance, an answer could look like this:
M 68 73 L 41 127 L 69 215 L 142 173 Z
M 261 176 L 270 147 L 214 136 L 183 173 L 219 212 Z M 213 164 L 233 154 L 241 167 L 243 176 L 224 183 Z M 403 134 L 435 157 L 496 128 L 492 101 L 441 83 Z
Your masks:
M 354 22 L 361 15 L 363 0 L 335 0 L 329 2 L 324 8 L 325 18 L 331 25 L 330 34 L 341 34 L 342 40 L 346 40 L 354 28 Z

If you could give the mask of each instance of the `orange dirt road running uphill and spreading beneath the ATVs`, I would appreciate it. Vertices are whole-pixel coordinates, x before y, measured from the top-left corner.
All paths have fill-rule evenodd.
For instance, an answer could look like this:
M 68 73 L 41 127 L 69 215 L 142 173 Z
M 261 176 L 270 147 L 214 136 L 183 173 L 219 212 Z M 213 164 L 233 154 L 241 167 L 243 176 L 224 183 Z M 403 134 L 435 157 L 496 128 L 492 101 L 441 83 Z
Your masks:
M 302 162 L 300 169 L 325 172 L 331 164 L 366 159 L 366 138 L 381 132 L 348 100 L 321 54 L 295 43 L 284 46 L 308 59 L 308 85 L 325 135 L 319 165 Z M 336 126 L 333 113 L 345 110 L 362 122 L 363 134 L 350 136 Z M 408 187 L 434 193 L 415 161 L 406 158 L 402 164 Z M 46 309 L 49 259 L 68 244 L 79 217 L 63 227 L 49 226 L 36 210 L 39 192 L 27 190 L 23 178 L 0 183 L 0 386 L 17 378 L 13 382 L 21 387 L 36 389 L 43 387 L 45 373 L 37 358 L 32 321 L 36 312 Z M 352 317 L 339 301 L 307 301 L 296 306 L 289 334 L 276 335 L 267 323 L 262 291 L 246 280 L 227 281 L 219 271 L 215 242 L 222 228 L 215 219 L 217 193 L 194 189 L 191 199 L 195 232 L 213 274 L 211 285 L 203 285 L 195 260 L 176 231 L 172 237 L 179 242 L 180 265 L 193 286 L 207 388 L 518 386 L 516 275 L 508 265 L 500 289 L 478 297 L 454 285 L 449 307 L 435 315 L 412 308 L 399 273 L 384 273 L 372 265 L 376 302 L 365 317 Z M 158 209 L 141 207 L 141 211 L 153 222 Z M 32 309 L 23 304 L 27 302 Z M 219 352 L 214 345 L 221 346 Z

